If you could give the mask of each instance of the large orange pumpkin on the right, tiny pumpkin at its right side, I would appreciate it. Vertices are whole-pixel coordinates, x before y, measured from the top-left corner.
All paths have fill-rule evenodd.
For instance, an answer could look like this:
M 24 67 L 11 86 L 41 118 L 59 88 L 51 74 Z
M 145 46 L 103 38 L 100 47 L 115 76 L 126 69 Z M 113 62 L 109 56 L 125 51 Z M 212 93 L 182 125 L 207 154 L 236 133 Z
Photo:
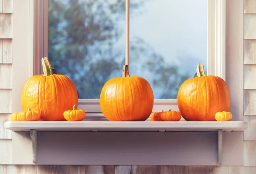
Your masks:
M 205 75 L 198 64 L 198 77 L 186 80 L 180 87 L 177 103 L 186 121 L 216 121 L 215 113 L 230 110 L 230 91 L 226 82 L 215 75 Z

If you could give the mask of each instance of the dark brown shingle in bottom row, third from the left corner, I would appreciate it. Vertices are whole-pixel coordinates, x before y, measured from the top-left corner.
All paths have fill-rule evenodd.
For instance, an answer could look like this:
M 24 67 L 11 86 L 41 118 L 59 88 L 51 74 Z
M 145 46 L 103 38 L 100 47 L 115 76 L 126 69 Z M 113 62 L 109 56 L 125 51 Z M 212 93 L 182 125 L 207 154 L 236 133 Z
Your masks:
M 37 165 L 36 174 L 70 174 L 70 165 Z

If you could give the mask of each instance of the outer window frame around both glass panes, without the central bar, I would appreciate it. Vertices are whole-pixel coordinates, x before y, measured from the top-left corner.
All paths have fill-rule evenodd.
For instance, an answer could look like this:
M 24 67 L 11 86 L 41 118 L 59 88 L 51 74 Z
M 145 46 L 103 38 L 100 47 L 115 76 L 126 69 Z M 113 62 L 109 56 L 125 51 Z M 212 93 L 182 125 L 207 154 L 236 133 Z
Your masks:
M 42 73 L 40 60 L 48 57 L 48 0 L 35 1 L 34 7 L 34 71 L 31 76 Z M 226 80 L 226 0 L 208 0 L 207 12 L 207 75 Z M 94 116 L 102 114 L 99 99 L 79 99 L 78 107 Z M 152 112 L 169 109 L 178 110 L 177 99 L 154 99 Z

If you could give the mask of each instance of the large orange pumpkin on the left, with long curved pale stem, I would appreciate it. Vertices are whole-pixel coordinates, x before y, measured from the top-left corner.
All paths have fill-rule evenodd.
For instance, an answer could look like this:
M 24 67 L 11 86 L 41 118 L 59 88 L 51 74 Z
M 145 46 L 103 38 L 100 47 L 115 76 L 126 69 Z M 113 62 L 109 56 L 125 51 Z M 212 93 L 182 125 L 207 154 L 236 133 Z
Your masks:
M 53 74 L 48 58 L 42 58 L 44 74 L 34 75 L 22 90 L 23 110 L 37 110 L 41 119 L 65 121 L 63 113 L 78 104 L 78 94 L 73 81 L 65 75 Z

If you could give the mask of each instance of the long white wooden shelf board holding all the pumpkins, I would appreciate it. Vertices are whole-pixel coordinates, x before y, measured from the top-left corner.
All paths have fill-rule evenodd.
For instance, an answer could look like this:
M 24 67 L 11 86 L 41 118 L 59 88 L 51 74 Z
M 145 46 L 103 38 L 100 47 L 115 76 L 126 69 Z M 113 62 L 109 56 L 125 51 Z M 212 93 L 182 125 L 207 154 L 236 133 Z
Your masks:
M 166 132 L 242 132 L 247 122 L 5 122 L 12 131 L 166 131 Z

